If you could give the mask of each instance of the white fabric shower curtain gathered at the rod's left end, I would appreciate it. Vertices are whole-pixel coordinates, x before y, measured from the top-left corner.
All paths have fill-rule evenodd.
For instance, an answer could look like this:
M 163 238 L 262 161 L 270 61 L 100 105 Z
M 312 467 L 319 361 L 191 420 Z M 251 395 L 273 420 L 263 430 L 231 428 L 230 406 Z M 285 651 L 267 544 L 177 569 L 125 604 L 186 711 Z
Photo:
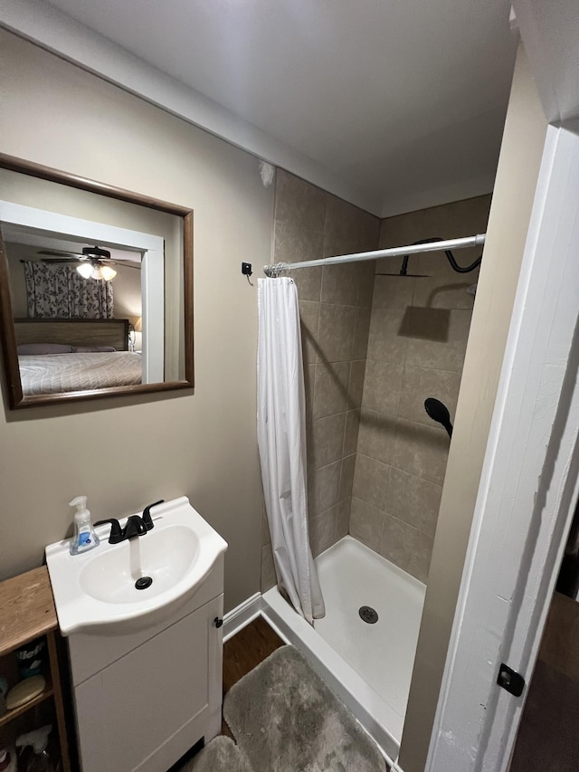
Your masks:
M 258 279 L 258 445 L 278 585 L 311 624 L 326 611 L 308 539 L 306 402 L 298 290 Z

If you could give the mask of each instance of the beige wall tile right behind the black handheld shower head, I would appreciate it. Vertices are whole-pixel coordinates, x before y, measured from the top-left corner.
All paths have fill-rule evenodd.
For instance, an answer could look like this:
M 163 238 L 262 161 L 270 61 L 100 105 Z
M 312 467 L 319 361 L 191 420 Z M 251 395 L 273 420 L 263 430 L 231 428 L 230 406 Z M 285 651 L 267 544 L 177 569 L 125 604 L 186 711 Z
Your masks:
M 398 415 L 418 424 L 436 426 L 424 409 L 424 400 L 433 396 L 446 405 L 451 414 L 451 423 L 456 413 L 459 396 L 460 373 L 449 370 L 434 370 L 427 367 L 405 365 Z

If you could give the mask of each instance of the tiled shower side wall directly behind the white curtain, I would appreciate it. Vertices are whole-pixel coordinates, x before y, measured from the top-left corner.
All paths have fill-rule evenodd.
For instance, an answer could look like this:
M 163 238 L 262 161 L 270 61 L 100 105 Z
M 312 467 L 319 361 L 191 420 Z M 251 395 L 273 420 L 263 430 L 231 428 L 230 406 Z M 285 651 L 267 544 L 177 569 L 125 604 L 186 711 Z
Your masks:
M 273 262 L 375 250 L 380 221 L 281 169 L 276 174 Z M 314 555 L 346 535 L 374 287 L 374 262 L 299 269 L 308 424 L 309 537 Z M 261 588 L 275 584 L 263 519 Z

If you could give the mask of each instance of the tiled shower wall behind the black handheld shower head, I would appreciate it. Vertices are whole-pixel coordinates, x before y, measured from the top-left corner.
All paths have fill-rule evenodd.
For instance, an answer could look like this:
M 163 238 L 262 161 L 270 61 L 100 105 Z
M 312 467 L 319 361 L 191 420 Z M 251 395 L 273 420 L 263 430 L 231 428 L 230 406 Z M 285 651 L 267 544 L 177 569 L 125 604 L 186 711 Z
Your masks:
M 490 195 L 383 220 L 380 247 L 485 233 Z M 454 253 L 470 264 L 481 249 Z M 432 396 L 454 418 L 478 277 L 452 271 L 444 253 L 375 262 L 376 276 L 356 453 L 350 533 L 426 580 L 449 437 L 424 410 Z

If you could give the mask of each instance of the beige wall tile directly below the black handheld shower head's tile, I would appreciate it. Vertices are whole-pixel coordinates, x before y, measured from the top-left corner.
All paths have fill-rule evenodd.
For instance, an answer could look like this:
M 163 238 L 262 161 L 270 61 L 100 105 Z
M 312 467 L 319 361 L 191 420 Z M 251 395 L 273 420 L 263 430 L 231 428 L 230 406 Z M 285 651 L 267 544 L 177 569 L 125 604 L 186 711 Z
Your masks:
M 444 429 L 399 418 L 393 465 L 403 472 L 441 485 L 446 471 L 449 443 L 449 436 Z

